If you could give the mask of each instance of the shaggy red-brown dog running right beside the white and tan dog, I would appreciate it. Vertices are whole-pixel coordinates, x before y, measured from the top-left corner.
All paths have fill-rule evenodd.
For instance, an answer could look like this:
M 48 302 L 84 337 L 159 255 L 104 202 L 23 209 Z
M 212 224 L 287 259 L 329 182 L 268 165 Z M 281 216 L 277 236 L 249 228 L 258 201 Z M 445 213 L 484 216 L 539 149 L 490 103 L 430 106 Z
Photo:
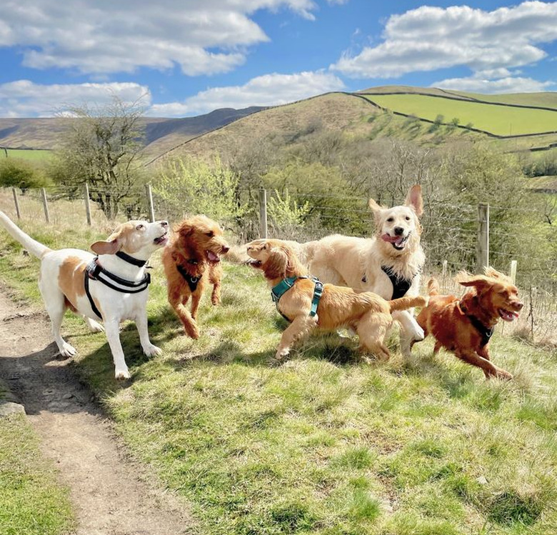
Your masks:
M 222 268 L 219 255 L 228 250 L 221 227 L 206 216 L 184 219 L 176 226 L 171 243 L 164 249 L 162 261 L 168 281 L 169 303 L 191 338 L 199 338 L 196 316 L 206 279 L 213 284 L 211 302 L 214 305 L 221 302 Z M 189 276 L 199 279 L 194 291 L 191 291 L 188 282 L 181 275 L 179 266 Z M 190 296 L 191 311 L 188 311 L 185 305 Z

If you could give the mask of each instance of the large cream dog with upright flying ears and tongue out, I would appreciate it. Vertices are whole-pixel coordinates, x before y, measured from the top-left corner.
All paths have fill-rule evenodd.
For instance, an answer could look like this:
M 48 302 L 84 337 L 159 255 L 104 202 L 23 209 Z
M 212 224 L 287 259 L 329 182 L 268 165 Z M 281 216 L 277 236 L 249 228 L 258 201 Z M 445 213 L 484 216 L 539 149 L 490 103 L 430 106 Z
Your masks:
M 384 208 L 369 199 L 369 207 L 376 220 L 373 238 L 335 234 L 303 244 L 310 273 L 322 282 L 373 291 L 383 299 L 417 296 L 426 258 L 420 245 L 421 186 L 408 191 L 403 206 Z M 409 356 L 411 342 L 423 340 L 423 329 L 412 311 L 394 312 L 393 318 L 401 324 L 401 351 Z

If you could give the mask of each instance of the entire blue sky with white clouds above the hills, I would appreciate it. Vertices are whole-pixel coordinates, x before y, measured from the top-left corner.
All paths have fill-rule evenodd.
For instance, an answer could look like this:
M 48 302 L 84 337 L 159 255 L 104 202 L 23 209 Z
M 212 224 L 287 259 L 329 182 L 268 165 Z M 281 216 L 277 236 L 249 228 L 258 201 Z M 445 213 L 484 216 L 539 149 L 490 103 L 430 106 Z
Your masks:
M 151 116 L 326 91 L 557 90 L 557 2 L 4 0 L 0 116 L 141 98 Z

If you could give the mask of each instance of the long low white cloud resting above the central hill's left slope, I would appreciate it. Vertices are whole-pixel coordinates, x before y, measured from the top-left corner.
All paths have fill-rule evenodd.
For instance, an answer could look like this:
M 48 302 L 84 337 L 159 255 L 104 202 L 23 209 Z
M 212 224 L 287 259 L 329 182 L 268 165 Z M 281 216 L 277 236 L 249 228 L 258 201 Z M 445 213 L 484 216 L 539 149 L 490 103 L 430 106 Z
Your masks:
M 201 114 L 217 108 L 275 106 L 327 91 L 341 91 L 343 88 L 341 79 L 323 71 L 265 74 L 251 79 L 243 86 L 214 87 L 183 102 L 154 104 L 149 115 L 171 117 Z

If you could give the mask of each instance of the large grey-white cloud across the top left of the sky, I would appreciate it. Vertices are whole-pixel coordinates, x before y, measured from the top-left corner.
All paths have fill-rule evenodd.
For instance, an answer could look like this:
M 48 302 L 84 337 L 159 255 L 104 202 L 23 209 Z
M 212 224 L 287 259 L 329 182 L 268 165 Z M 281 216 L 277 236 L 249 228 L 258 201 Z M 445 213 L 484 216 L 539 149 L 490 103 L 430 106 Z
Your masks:
M 246 47 L 268 41 L 250 15 L 291 9 L 313 19 L 313 0 L 4 0 L 0 46 L 17 46 L 23 64 L 85 74 L 139 67 L 215 74 L 245 61 Z

